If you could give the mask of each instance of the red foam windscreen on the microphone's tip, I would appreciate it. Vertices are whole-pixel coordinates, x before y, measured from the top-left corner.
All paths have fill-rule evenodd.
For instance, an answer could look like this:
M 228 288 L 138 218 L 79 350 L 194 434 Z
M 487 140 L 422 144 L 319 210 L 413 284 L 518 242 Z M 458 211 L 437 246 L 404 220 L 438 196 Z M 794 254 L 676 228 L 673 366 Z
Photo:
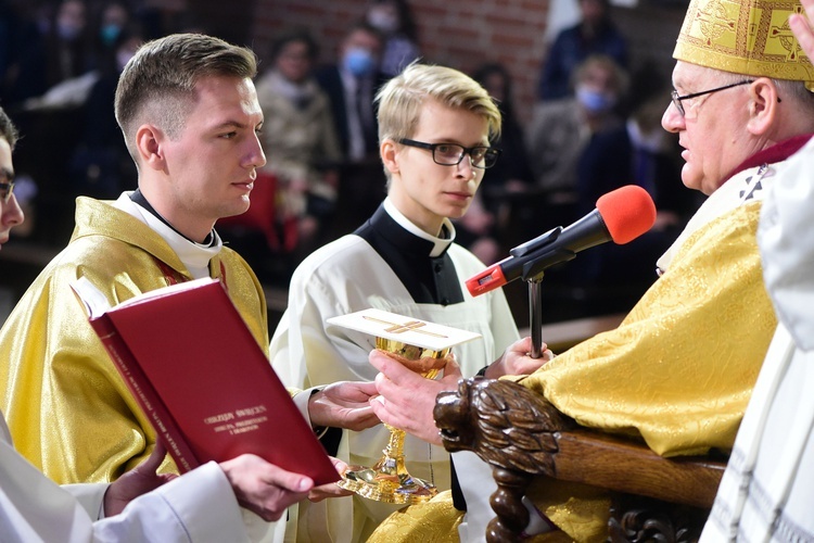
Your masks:
M 637 185 L 626 185 L 602 194 L 596 209 L 613 242 L 620 245 L 638 238 L 656 223 L 653 199 Z

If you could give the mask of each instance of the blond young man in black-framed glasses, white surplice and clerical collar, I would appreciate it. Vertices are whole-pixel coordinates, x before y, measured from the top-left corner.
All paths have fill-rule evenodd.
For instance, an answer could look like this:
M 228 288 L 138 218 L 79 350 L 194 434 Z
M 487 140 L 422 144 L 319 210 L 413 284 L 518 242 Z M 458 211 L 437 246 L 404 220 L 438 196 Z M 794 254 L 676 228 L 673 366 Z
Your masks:
M 467 291 L 465 280 L 484 265 L 454 242 L 450 222 L 467 212 L 487 168 L 499 156 L 488 143 L 489 135 L 500 129 L 497 106 L 465 74 L 421 64 L 411 64 L 391 79 L 377 100 L 387 197 L 354 233 L 317 250 L 295 270 L 289 307 L 270 349 L 275 369 L 290 387 L 373 380 L 377 370 L 368 363 L 369 339 L 326 323 L 368 307 L 481 333 L 482 340 L 456 348 L 462 363 L 460 371 L 455 363 L 447 366 L 448 387 L 461 372 L 474 375 L 518 342 L 504 293 L 472 298 Z M 517 345 L 523 353 L 529 349 L 524 342 Z M 529 371 L 540 363 L 512 372 Z M 501 359 L 487 372 L 499 376 L 504 367 Z M 432 402 L 411 407 L 421 409 L 431 412 Z M 339 457 L 372 466 L 387 434 L 383 427 L 345 432 Z M 412 476 L 442 490 L 449 488 L 449 460 L 442 447 L 408 437 L 405 459 Z M 328 509 L 300 507 L 297 541 L 320 541 L 320 536 L 327 541 L 317 531 L 320 522 L 332 527 L 334 541 L 364 541 L 387 513 L 400 507 L 358 496 L 333 502 Z M 291 518 L 290 523 L 296 522 L 294 515 Z

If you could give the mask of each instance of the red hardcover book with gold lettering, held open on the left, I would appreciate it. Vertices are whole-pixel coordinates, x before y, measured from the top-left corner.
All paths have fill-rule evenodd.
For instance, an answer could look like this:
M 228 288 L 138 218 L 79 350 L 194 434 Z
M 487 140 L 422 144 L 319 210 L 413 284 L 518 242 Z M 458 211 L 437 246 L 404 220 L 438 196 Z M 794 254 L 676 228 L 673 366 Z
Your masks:
M 181 472 L 253 453 L 318 485 L 340 479 L 220 281 L 112 308 L 86 278 L 72 287 Z

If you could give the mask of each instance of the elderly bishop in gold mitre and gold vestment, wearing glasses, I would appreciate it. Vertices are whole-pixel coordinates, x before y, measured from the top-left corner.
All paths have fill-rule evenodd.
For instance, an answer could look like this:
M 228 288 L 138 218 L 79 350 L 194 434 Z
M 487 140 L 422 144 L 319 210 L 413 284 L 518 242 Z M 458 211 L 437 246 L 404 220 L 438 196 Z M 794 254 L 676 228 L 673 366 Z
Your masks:
M 633 434 L 663 456 L 732 450 L 776 328 L 755 242 L 762 200 L 814 132 L 814 67 L 783 31 L 800 11 L 794 0 L 689 3 L 674 52 L 676 92 L 662 126 L 684 149 L 682 181 L 709 198 L 658 260 L 661 277 L 616 329 L 514 378 L 578 424 Z M 398 395 L 414 390 L 412 378 L 382 358 L 371 354 L 371 363 L 400 384 L 378 387 L 392 411 L 419 401 L 415 393 Z M 376 411 L 392 422 L 387 412 Z M 461 481 L 479 475 L 458 472 Z M 491 480 L 479 481 L 469 487 L 474 492 L 463 489 L 466 516 L 450 515 L 450 501 L 437 496 L 391 517 L 369 543 L 482 540 L 494 514 Z M 608 535 L 607 493 L 536 482 L 529 495 L 564 532 L 555 538 Z M 468 533 L 456 530 L 461 517 Z

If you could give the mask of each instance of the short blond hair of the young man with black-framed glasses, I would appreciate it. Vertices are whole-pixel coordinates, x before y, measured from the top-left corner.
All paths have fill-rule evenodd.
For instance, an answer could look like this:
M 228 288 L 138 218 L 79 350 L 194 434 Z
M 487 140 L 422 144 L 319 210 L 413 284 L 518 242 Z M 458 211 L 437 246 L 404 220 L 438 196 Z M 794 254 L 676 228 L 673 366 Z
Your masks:
M 489 139 L 500 136 L 500 111 L 486 89 L 468 75 L 445 66 L 414 62 L 389 80 L 376 96 L 379 141 L 410 138 L 428 98 L 484 118 Z

